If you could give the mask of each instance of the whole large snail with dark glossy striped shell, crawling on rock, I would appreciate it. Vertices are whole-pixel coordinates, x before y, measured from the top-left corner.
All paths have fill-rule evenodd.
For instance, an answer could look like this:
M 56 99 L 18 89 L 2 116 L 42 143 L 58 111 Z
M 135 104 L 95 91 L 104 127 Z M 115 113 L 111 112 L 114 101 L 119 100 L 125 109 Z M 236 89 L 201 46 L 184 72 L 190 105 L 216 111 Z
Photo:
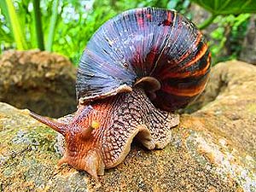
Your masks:
M 205 88 L 211 54 L 202 33 L 176 11 L 141 8 L 104 23 L 79 61 L 78 110 L 68 122 L 31 116 L 61 133 L 67 163 L 96 178 L 119 165 L 136 138 L 165 148 L 178 108 Z

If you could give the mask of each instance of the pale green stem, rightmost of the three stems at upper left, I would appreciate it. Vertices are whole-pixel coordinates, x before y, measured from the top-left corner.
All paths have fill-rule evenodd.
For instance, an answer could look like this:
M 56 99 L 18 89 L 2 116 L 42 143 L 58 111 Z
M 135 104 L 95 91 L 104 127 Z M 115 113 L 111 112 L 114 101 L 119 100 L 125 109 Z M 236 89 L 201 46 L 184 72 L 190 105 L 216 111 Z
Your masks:
M 58 5 L 59 5 L 59 0 L 55 0 L 52 6 L 52 15 L 49 23 L 49 35 L 48 35 L 47 44 L 46 44 L 46 50 L 48 51 L 52 50 L 52 44 L 54 41 L 55 27 L 58 19 Z

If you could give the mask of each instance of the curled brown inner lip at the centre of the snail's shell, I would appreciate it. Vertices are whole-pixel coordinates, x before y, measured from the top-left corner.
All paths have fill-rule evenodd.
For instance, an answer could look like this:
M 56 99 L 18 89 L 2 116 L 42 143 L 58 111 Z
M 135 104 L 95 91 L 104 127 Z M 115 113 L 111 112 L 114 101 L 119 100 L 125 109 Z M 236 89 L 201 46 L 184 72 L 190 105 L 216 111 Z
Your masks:
M 142 79 L 138 79 L 134 86 L 141 87 L 147 93 L 150 100 L 154 100 L 156 95 L 155 91 L 160 90 L 161 84 L 160 81 L 153 77 L 143 77 Z

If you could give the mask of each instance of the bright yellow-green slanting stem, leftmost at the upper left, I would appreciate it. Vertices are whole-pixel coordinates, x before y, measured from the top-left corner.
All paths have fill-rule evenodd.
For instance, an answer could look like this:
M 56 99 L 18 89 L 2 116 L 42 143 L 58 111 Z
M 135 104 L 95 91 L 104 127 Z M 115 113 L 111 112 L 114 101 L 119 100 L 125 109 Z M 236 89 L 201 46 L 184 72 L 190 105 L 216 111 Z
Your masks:
M 10 26 L 12 28 L 12 32 L 15 38 L 15 43 L 17 44 L 17 49 L 27 49 L 25 36 L 21 31 L 20 20 L 18 20 L 18 16 L 15 12 L 15 6 L 12 0 L 5 0 L 8 18 L 10 22 Z

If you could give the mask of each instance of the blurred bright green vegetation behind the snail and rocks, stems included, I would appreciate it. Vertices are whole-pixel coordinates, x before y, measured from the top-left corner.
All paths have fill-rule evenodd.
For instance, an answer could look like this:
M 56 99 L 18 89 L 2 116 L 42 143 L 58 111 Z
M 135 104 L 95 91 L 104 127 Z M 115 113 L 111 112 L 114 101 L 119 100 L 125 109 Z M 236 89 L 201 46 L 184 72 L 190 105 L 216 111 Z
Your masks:
M 193 20 L 197 14 L 190 9 L 193 3 L 210 13 L 199 27 L 215 26 L 209 33 L 206 31 L 213 61 L 236 59 L 248 20 L 256 12 L 256 1 L 0 0 L 0 52 L 46 49 L 67 55 L 77 64 L 92 34 L 114 15 L 126 9 L 151 6 L 176 9 Z

